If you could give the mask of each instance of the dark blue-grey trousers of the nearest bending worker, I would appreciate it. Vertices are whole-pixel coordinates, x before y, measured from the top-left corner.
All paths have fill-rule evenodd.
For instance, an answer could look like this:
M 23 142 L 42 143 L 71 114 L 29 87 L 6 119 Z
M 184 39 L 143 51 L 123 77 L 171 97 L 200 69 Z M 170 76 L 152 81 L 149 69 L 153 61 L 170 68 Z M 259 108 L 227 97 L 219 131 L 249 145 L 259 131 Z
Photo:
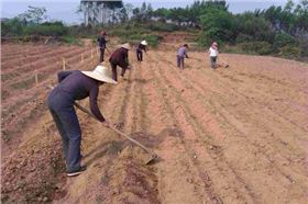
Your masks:
M 81 129 L 74 109 L 74 100 L 68 93 L 55 89 L 50 94 L 47 104 L 62 137 L 67 171 L 79 170 Z

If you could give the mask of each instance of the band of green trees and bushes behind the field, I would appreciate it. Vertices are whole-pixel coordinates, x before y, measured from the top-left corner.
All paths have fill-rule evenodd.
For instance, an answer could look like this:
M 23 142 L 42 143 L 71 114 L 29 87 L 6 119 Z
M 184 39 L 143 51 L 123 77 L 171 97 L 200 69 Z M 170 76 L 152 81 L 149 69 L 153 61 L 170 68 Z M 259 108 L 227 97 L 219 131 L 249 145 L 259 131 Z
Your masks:
M 226 1 L 195 1 L 186 8 L 153 10 L 150 3 L 141 8 L 132 4 L 110 3 L 112 22 L 103 25 L 65 26 L 62 22 L 45 22 L 44 8 L 30 7 L 25 13 L 2 22 L 3 36 L 54 36 L 76 44 L 74 37 L 96 41 L 101 30 L 118 36 L 120 42 L 148 41 L 157 46 L 162 37 L 153 32 L 188 31 L 198 33 L 202 48 L 219 43 L 223 52 L 275 55 L 286 58 L 308 58 L 308 0 L 295 4 L 288 0 L 284 7 L 271 7 L 233 14 Z

